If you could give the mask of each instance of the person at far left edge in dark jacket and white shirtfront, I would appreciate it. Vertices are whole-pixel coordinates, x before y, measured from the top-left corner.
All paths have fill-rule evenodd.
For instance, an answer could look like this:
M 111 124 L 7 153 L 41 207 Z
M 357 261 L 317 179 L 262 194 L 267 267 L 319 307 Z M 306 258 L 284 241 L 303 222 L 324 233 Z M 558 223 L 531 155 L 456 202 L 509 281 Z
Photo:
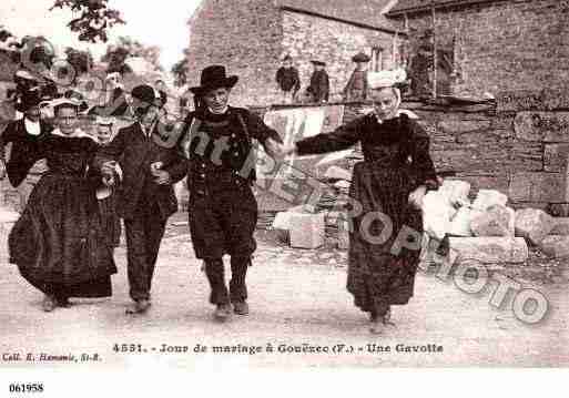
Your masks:
M 41 90 L 33 88 L 21 95 L 20 110 L 23 116 L 10 122 L 0 135 L 0 180 L 8 174 L 10 184 L 18 188 L 20 211 L 41 175 L 48 171 L 45 160 L 39 159 L 39 143 L 53 130 L 41 120 Z M 10 161 L 6 163 L 4 146 L 12 143 Z

